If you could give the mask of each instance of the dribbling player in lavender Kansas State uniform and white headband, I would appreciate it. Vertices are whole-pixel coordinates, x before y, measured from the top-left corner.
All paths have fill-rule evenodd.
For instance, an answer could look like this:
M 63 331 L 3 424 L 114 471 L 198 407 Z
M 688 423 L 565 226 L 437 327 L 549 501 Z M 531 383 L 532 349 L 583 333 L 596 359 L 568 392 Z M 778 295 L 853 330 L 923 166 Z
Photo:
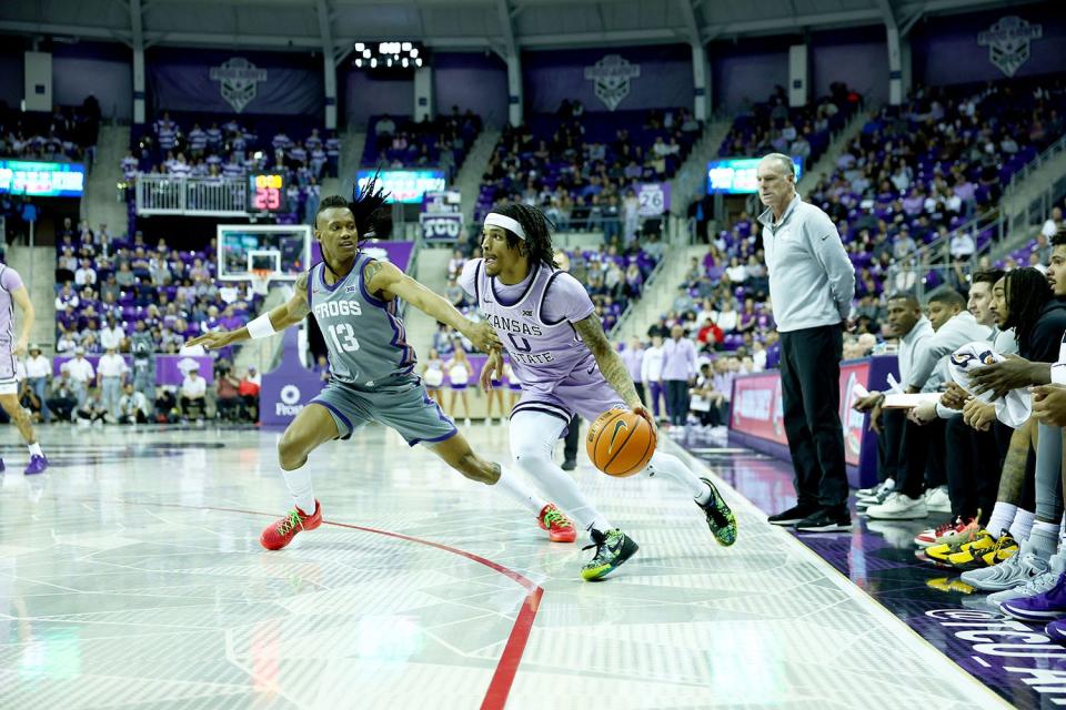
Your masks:
M 611 347 L 585 287 L 556 268 L 552 223 L 536 207 L 512 203 L 485 217 L 483 258 L 466 262 L 460 285 L 495 328 L 522 382 L 522 399 L 511 412 L 511 454 L 555 501 L 589 530 L 596 548 L 581 571 L 601 579 L 637 550 L 637 545 L 584 497 L 552 459 L 555 442 L 576 413 L 594 420 L 611 408 L 630 408 L 655 427 L 625 363 Z M 499 379 L 503 357 L 493 351 L 482 386 Z M 648 476 L 668 476 L 695 499 L 721 545 L 736 540 L 733 511 L 706 478 L 697 478 L 676 456 L 656 452 Z M 590 546 L 592 547 L 592 546 Z

